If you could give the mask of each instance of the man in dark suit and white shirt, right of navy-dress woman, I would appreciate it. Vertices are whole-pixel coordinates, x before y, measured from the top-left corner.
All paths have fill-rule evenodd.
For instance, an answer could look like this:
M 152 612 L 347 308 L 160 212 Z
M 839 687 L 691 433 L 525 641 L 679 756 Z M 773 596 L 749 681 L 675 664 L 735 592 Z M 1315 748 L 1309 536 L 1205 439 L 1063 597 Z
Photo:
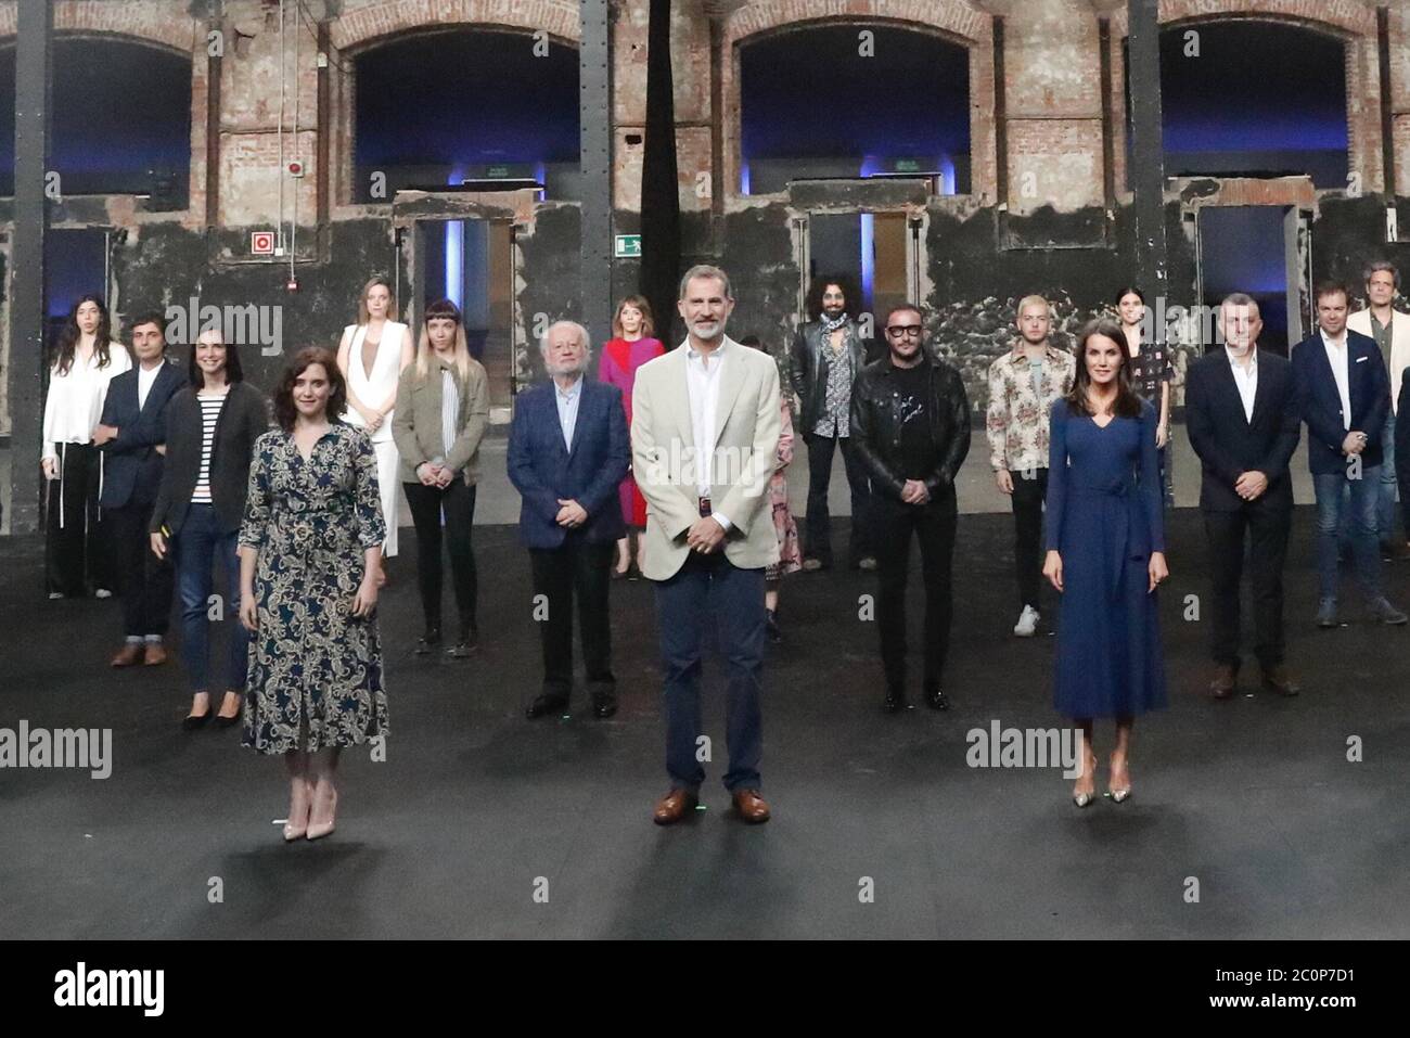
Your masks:
M 1204 478 L 1200 511 L 1213 574 L 1211 650 L 1215 700 L 1234 695 L 1239 670 L 1239 577 L 1249 536 L 1253 584 L 1253 653 L 1263 687 L 1297 695 L 1283 657 L 1283 563 L 1293 525 L 1289 460 L 1301 419 L 1292 365 L 1258 348 L 1263 320 L 1242 292 L 1220 306 L 1224 346 L 1190 365 L 1184 389 L 1186 427 Z

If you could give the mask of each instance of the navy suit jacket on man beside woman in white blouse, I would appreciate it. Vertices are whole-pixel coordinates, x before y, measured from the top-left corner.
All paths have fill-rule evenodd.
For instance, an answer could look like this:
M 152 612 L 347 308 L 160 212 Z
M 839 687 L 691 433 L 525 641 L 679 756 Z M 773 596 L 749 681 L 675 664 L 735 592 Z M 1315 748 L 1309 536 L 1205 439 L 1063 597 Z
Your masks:
M 157 453 L 166 443 L 166 403 L 186 385 L 186 372 L 166 361 L 147 391 L 147 403 L 137 405 L 137 368 L 124 371 L 107 388 L 103 425 L 117 426 L 117 436 L 103 444 L 103 508 L 151 505 L 162 484 L 164 458 Z

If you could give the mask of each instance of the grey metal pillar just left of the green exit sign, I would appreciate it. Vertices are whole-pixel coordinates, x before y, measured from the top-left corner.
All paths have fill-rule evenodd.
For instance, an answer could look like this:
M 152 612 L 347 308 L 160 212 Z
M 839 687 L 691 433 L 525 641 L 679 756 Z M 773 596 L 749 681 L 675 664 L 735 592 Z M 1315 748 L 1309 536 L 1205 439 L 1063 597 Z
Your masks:
M 582 323 L 592 341 L 612 337 L 612 75 L 608 0 L 580 0 L 578 123 L 582 169 L 580 244 Z

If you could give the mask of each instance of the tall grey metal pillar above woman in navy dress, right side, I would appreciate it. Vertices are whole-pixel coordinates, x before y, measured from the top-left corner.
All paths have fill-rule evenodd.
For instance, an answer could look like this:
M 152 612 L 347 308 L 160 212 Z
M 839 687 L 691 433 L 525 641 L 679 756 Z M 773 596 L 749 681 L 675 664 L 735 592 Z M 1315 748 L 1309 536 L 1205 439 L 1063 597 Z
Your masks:
M 1152 299 L 1169 295 L 1165 240 L 1165 149 L 1160 141 L 1158 0 L 1127 3 L 1131 69 L 1131 190 L 1135 195 L 1136 279 Z

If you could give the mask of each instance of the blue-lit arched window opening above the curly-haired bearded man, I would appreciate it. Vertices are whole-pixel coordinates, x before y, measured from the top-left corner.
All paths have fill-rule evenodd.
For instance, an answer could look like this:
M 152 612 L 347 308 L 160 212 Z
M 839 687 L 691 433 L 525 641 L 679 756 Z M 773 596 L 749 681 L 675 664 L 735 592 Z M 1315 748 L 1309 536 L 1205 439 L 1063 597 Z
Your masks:
M 887 24 L 808 24 L 744 39 L 740 192 L 887 173 L 970 190 L 969 49 Z

